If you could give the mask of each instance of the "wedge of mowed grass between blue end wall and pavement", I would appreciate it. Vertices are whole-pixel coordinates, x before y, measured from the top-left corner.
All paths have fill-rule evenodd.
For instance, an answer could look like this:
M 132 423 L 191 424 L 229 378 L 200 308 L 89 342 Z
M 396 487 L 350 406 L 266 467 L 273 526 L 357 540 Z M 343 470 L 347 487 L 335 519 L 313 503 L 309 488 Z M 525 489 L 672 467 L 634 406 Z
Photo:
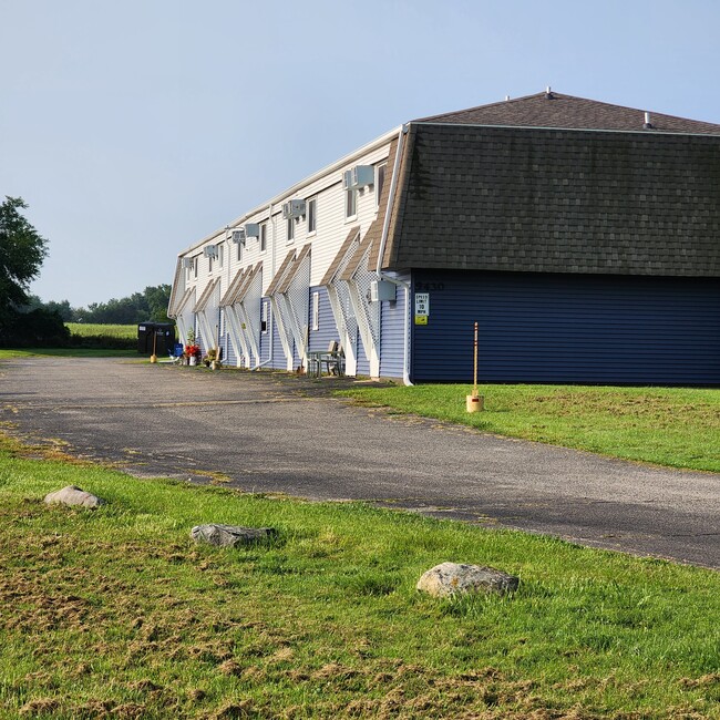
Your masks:
M 353 388 L 340 394 L 392 412 L 673 467 L 720 472 L 720 390 L 484 385 L 485 411 L 467 413 L 472 385 Z

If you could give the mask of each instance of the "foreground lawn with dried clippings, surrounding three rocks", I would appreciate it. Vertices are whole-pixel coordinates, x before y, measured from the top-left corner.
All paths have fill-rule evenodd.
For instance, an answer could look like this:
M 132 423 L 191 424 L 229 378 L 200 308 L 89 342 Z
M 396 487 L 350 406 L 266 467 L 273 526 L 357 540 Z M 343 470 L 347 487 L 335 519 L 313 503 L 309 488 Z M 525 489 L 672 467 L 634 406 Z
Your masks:
M 109 501 L 42 503 L 76 484 Z M 278 529 L 244 549 L 192 526 Z M 443 560 L 514 596 L 415 590 Z M 720 576 L 361 504 L 141 481 L 6 440 L 0 717 L 717 718 Z

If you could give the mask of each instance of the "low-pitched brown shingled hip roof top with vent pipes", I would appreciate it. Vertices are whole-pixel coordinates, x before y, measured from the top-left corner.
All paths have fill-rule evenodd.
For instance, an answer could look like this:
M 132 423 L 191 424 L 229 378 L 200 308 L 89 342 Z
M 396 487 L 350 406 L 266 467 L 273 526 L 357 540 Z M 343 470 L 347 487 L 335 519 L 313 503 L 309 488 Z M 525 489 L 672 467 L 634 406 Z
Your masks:
M 537 93 L 490 105 L 422 117 L 420 123 L 501 125 L 508 127 L 565 127 L 638 132 L 720 135 L 720 125 L 650 112 L 650 128 L 644 128 L 645 111 L 596 100 L 552 92 Z

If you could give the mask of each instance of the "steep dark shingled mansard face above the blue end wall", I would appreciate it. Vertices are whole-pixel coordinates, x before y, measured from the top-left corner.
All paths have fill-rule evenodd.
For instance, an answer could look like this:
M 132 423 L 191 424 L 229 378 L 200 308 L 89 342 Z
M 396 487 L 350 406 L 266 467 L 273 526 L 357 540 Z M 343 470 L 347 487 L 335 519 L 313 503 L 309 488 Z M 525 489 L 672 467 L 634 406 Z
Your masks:
M 720 276 L 720 136 L 411 124 L 383 267 Z

